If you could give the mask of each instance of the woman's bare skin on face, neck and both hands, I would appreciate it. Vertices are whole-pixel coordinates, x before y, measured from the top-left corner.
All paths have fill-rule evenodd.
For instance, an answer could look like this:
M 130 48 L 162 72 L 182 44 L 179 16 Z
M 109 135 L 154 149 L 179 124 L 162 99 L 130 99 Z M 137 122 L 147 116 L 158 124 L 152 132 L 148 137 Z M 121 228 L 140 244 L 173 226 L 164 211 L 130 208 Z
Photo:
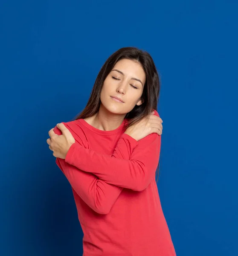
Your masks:
M 104 81 L 99 112 L 84 120 L 99 130 L 116 129 L 135 105 L 142 104 L 141 96 L 145 81 L 146 76 L 141 64 L 128 59 L 118 61 Z M 118 102 L 113 97 L 117 97 L 123 102 Z M 153 132 L 161 135 L 162 122 L 160 117 L 151 113 L 147 119 L 132 125 L 125 133 L 137 141 Z M 63 123 L 58 124 L 57 127 L 62 131 L 62 135 L 55 134 L 54 128 L 52 128 L 49 131 L 50 138 L 46 142 L 55 157 L 65 159 L 75 140 Z

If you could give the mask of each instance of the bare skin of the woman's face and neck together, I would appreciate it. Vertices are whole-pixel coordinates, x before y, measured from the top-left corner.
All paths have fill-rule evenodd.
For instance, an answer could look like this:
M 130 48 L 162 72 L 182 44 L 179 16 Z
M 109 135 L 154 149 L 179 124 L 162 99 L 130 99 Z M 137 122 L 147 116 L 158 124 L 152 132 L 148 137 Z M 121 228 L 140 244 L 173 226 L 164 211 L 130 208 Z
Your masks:
M 136 78 L 142 83 L 131 78 Z M 145 81 L 145 72 L 138 62 L 128 59 L 118 61 L 104 81 L 99 112 L 85 121 L 99 130 L 116 129 L 122 123 L 126 113 L 130 112 L 135 105 L 142 104 L 141 96 Z M 124 103 L 116 102 L 111 96 L 122 99 Z

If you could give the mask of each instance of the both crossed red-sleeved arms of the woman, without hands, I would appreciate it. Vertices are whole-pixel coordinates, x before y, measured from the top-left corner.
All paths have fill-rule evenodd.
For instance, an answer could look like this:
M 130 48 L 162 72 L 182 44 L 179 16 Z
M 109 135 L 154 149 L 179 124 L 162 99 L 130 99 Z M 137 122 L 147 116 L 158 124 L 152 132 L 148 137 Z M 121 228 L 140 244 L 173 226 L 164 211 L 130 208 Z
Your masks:
M 61 135 L 57 127 L 54 132 Z M 138 142 L 122 134 L 110 156 L 75 142 L 66 158 L 56 158 L 56 163 L 82 200 L 96 212 L 107 214 L 123 188 L 142 191 L 149 185 L 159 161 L 160 143 L 158 134 Z

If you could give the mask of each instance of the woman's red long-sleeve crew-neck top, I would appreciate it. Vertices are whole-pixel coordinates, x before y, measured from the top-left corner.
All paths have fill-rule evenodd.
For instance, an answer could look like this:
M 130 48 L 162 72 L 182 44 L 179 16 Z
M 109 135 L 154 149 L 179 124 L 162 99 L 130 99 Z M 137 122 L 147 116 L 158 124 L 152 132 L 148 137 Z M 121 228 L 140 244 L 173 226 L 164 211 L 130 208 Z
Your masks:
M 72 186 L 83 256 L 175 256 L 155 180 L 161 136 L 137 142 L 125 122 L 112 131 L 63 122 L 75 143 L 56 164 Z

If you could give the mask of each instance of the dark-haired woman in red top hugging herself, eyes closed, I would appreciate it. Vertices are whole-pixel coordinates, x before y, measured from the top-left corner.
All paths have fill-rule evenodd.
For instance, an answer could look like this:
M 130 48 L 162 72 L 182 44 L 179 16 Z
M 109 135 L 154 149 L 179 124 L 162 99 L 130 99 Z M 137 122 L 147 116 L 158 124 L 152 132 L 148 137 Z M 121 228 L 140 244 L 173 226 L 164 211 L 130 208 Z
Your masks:
M 85 109 L 49 131 L 72 186 L 83 256 L 176 255 L 155 180 L 159 91 L 151 55 L 121 48 L 100 70 Z

